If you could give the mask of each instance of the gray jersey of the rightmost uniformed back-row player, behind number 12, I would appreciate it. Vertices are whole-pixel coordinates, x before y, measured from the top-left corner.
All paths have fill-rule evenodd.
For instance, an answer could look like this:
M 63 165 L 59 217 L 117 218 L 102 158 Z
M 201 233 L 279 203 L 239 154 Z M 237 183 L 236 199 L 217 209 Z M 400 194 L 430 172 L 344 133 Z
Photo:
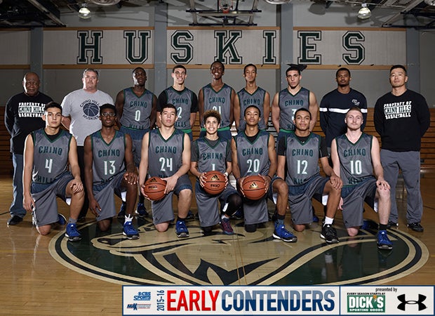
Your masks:
M 295 118 L 296 110 L 303 107 L 309 110 L 309 90 L 300 88 L 294 96 L 288 89 L 285 88 L 279 91 L 279 128 L 288 131 L 294 131 L 295 125 L 293 119 Z

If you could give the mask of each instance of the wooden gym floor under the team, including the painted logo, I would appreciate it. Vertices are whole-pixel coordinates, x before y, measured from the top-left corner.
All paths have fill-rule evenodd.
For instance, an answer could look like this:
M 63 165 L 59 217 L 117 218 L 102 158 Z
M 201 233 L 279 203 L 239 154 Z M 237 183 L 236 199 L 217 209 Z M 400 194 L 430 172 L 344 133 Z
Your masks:
M 335 225 L 340 243 L 326 245 L 313 223 L 296 233 L 298 242 L 272 239 L 272 222 L 247 234 L 241 221 L 232 221 L 235 235 L 203 237 L 197 220 L 188 223 L 190 237 L 178 239 L 174 228 L 155 232 L 149 219 L 139 220 L 140 239 L 121 237 L 114 219 L 112 230 L 95 230 L 88 213 L 81 224 L 83 239 L 67 242 L 65 227 L 39 236 L 29 214 L 8 227 L 11 178 L 0 178 L 0 304 L 2 315 L 120 315 L 121 284 L 394 284 L 433 285 L 435 280 L 435 171 L 422 173 L 424 232 L 408 230 L 406 192 L 399 182 L 399 228 L 389 230 L 393 251 L 378 251 L 368 227 L 355 240 L 346 237 L 341 215 Z M 119 205 L 119 201 L 116 201 Z M 67 208 L 59 202 L 67 216 Z M 323 210 L 314 204 L 317 215 Z M 196 213 L 196 205 L 192 205 Z M 269 211 L 272 209 L 269 208 Z M 364 217 L 375 220 L 366 208 Z M 289 217 L 286 226 L 290 228 Z

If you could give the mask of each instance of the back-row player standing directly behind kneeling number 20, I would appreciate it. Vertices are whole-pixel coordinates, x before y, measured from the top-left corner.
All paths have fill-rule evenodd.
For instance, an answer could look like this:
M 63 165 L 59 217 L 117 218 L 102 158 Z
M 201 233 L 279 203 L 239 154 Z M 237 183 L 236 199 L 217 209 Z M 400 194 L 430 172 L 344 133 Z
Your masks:
M 246 80 L 246 86 L 234 98 L 234 121 L 236 122 L 237 131 L 245 130 L 246 122 L 243 118 L 243 113 L 249 105 L 255 105 L 262 109 L 262 116 L 258 124 L 260 129 L 267 129 L 270 114 L 269 92 L 257 86 L 255 82 L 257 67 L 255 65 L 246 65 L 243 68 L 243 77 Z

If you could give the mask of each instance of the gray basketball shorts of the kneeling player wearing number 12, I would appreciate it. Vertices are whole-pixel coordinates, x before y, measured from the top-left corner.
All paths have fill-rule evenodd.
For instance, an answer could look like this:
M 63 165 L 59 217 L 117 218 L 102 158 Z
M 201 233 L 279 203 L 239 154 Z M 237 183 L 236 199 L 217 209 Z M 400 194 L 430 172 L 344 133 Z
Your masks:
M 316 175 L 303 185 L 288 186 L 288 204 L 293 224 L 304 225 L 312 223 L 312 197 L 321 197 L 328 181 L 329 178 Z

